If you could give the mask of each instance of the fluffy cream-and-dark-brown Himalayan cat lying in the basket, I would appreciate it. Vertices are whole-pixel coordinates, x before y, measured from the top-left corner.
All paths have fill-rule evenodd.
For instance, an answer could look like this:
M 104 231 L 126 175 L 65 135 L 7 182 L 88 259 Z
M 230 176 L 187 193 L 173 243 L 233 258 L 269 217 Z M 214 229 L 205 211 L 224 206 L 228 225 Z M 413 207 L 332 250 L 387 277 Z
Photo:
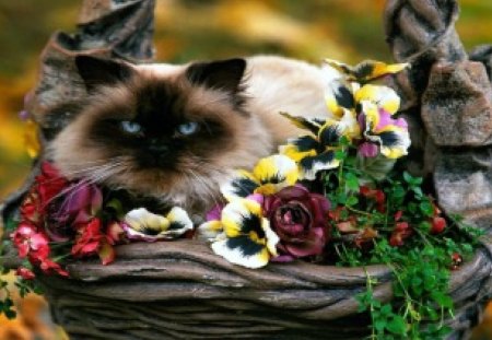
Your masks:
M 321 70 L 281 57 L 132 66 L 81 56 L 75 65 L 90 96 L 50 145 L 56 166 L 191 213 L 220 200 L 233 169 L 301 132 L 279 112 L 330 115 Z

